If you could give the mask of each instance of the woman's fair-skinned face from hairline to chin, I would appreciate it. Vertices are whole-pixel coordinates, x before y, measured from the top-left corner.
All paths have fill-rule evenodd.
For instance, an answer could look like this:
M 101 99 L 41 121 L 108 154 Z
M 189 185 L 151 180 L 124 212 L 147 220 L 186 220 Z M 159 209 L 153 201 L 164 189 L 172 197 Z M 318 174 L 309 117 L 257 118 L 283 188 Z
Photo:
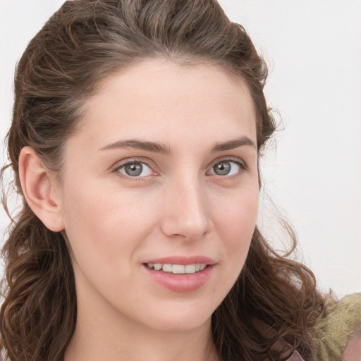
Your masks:
M 257 218 L 245 82 L 161 60 L 111 75 L 87 101 L 64 164 L 79 316 L 169 331 L 209 323 Z

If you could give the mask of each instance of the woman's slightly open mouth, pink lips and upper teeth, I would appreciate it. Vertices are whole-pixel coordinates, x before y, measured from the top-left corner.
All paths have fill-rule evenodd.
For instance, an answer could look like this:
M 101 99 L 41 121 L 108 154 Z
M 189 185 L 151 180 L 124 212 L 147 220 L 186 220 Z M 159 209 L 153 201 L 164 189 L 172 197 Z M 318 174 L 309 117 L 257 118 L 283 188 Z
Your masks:
M 143 266 L 160 286 L 175 292 L 191 292 L 207 283 L 215 264 L 213 259 L 195 256 L 152 259 Z

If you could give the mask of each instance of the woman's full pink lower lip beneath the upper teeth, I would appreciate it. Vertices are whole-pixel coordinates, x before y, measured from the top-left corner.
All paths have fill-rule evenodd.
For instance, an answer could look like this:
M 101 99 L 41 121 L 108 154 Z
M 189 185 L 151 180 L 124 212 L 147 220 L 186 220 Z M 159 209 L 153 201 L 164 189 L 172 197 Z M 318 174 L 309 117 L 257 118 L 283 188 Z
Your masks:
M 143 264 L 149 276 L 161 286 L 175 292 L 192 292 L 202 287 L 209 280 L 214 264 L 209 264 L 202 271 L 195 274 L 172 274 L 170 272 L 155 271 Z

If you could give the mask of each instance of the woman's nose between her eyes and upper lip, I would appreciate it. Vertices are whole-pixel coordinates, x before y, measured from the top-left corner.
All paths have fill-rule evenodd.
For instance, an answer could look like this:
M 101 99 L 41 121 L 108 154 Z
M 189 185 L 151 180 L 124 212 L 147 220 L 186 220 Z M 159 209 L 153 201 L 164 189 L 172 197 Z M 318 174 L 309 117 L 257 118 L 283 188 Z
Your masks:
M 212 228 L 207 208 L 207 195 L 197 180 L 170 185 L 164 197 L 161 221 L 169 238 L 198 240 Z

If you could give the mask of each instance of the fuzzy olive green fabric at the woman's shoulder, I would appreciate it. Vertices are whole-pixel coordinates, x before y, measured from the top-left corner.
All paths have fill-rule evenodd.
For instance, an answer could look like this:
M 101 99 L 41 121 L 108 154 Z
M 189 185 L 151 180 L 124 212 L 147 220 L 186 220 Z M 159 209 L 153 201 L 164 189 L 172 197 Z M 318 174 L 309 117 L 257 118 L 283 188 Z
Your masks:
M 353 293 L 337 303 L 326 301 L 329 314 L 313 330 L 316 359 L 340 361 L 353 334 L 361 329 L 361 293 Z

